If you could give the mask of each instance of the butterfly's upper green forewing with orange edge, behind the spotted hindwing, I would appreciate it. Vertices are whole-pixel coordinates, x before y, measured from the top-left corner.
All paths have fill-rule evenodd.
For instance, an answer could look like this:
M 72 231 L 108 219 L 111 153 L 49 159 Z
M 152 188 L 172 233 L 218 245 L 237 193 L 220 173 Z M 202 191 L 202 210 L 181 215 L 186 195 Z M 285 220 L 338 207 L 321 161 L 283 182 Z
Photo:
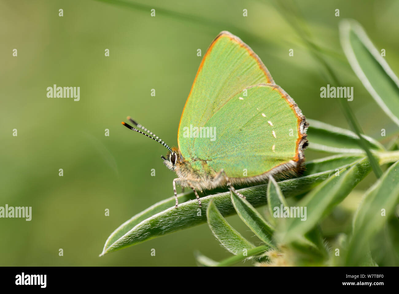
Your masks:
M 186 160 L 198 155 L 184 128 L 202 127 L 233 95 L 259 83 L 274 83 L 265 65 L 241 39 L 221 32 L 202 59 L 180 119 L 178 145 Z

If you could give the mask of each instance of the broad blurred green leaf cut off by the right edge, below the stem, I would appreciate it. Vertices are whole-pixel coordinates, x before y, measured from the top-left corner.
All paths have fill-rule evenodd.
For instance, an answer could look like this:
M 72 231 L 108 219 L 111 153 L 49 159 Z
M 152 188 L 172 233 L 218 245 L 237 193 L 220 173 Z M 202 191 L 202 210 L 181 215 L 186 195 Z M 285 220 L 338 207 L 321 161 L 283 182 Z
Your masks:
M 361 265 L 363 249 L 369 239 L 383 228 L 399 203 L 399 161 L 385 171 L 383 176 L 371 187 L 359 205 L 354 216 L 353 234 L 348 247 L 346 264 Z M 383 214 L 382 210 L 385 210 Z

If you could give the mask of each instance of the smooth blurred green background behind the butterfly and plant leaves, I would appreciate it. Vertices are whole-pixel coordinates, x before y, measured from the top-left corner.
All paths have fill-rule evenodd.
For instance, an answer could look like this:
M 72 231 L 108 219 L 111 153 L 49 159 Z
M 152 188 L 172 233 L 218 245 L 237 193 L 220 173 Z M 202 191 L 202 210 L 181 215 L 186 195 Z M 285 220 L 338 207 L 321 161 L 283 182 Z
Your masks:
M 300 23 L 343 86 L 354 87 L 350 106 L 363 131 L 381 141 L 381 128 L 389 133 L 395 126 L 346 61 L 338 22 L 358 20 L 399 73 L 399 2 L 286 3 L 300 12 Z M 337 8 L 340 17 L 334 16 Z M 201 62 L 197 49 L 204 55 L 222 30 L 253 48 L 306 117 L 348 128 L 338 99 L 320 98 L 326 86 L 321 68 L 274 1 L 2 0 L 0 16 L 0 206 L 32 207 L 32 221 L 0 219 L 2 266 L 190 266 L 195 250 L 215 260 L 230 256 L 203 224 L 98 257 L 122 222 L 173 195 L 175 175 L 160 159 L 166 149 L 120 121 L 131 115 L 177 145 L 180 115 Z M 53 84 L 79 86 L 80 101 L 47 98 Z M 306 151 L 308 160 L 324 155 Z M 374 175 L 368 177 L 348 201 L 358 202 L 356 195 L 373 183 Z M 254 240 L 237 216 L 227 221 Z M 325 221 L 332 234 L 337 225 Z

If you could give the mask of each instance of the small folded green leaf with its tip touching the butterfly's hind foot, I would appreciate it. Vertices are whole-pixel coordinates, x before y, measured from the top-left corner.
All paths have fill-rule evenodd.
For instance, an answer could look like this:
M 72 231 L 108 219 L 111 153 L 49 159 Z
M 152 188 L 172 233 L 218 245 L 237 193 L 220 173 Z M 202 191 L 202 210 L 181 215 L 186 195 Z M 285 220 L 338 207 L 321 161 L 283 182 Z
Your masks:
M 231 193 L 231 202 L 240 219 L 268 246 L 273 247 L 273 228 L 253 208 L 253 206 L 242 197 Z

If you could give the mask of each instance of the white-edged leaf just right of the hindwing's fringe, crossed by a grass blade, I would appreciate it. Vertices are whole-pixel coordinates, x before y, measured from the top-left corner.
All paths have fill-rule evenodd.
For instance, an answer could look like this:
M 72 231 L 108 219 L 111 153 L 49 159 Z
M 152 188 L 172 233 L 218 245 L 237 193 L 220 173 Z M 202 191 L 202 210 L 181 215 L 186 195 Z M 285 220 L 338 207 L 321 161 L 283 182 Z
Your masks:
M 356 133 L 321 121 L 308 119 L 309 148 L 332 153 L 362 153 Z M 362 135 L 367 147 L 383 151 L 384 147 L 371 137 Z

